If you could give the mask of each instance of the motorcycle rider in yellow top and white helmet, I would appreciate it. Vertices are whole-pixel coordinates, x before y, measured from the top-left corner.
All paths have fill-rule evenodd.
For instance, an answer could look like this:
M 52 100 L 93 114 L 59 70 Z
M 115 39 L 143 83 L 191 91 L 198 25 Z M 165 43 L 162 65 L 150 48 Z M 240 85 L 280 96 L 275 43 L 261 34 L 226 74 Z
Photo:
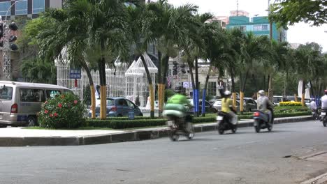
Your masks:
M 221 99 L 221 112 L 228 114 L 229 120 L 233 125 L 238 122 L 238 117 L 235 114 L 235 107 L 231 100 L 231 91 L 224 92 L 224 98 Z

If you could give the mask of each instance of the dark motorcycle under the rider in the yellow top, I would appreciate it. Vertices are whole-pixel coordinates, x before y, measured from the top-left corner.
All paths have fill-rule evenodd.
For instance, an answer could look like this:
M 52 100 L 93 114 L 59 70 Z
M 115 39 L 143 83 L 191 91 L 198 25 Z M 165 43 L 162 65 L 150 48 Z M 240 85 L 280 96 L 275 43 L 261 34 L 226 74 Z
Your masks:
M 217 125 L 218 125 L 218 132 L 220 135 L 224 134 L 224 131 L 231 130 L 233 133 L 238 130 L 238 124 L 235 125 L 230 122 L 230 117 L 225 112 L 218 112 L 217 116 Z

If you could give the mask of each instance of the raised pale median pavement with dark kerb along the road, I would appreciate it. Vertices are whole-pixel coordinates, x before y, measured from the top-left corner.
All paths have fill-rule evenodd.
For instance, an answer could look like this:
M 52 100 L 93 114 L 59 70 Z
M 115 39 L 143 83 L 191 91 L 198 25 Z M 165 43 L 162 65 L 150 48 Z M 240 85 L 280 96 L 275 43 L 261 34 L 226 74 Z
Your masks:
M 276 118 L 275 124 L 312 120 L 311 116 Z M 253 120 L 239 121 L 239 128 L 253 126 Z M 217 123 L 195 125 L 196 132 L 217 130 Z M 136 130 L 36 130 L 0 128 L 0 146 L 78 146 L 140 141 L 167 137 L 168 128 L 139 128 Z

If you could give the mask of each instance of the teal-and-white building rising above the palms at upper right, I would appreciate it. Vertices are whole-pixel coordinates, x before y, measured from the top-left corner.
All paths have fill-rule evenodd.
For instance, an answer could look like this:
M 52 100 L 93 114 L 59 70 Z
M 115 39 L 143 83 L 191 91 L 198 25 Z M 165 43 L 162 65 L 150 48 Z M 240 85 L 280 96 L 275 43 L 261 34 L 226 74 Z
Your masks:
M 238 11 L 238 16 L 235 16 L 235 11 L 231 12 L 227 29 L 237 28 L 246 32 L 253 32 L 255 36 L 270 37 L 270 24 L 267 16 L 249 17 L 249 13 Z M 273 39 L 278 41 L 286 41 L 287 35 L 285 29 L 277 29 L 275 23 L 272 24 Z

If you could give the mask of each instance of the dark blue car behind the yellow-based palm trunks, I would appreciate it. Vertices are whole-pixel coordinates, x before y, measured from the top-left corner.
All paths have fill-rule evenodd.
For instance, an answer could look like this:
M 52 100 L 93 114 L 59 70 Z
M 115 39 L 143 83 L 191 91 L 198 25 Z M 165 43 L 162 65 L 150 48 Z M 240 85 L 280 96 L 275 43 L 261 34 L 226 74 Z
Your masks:
M 134 116 L 143 116 L 140 108 L 126 98 L 107 98 L 107 117 L 129 116 L 129 112 L 134 112 Z M 89 117 L 92 110 L 89 111 Z M 96 100 L 96 116 L 100 116 L 100 99 Z

